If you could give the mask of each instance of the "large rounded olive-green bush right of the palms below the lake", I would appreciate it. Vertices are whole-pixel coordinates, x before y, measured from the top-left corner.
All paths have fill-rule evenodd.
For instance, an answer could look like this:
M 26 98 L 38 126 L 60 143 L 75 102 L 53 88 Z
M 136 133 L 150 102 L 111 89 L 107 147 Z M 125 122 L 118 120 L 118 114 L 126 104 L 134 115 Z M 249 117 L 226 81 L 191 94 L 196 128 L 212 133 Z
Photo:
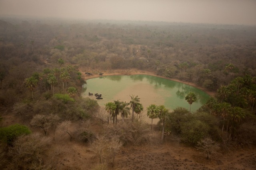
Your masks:
M 181 126 L 181 140 L 184 143 L 195 146 L 198 141 L 208 135 L 209 126 L 200 121 L 193 119 L 190 122 L 182 123 Z

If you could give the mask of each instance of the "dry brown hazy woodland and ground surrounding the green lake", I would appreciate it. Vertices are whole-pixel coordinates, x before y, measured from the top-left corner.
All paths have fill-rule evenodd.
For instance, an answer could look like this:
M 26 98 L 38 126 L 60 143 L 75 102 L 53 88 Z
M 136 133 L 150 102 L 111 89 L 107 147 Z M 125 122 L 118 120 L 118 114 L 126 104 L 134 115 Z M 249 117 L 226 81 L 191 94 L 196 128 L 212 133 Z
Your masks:
M 255 57 L 256 26 L 0 18 L 0 169 L 255 169 Z M 193 113 L 81 96 L 85 72 L 132 69 L 214 95 Z

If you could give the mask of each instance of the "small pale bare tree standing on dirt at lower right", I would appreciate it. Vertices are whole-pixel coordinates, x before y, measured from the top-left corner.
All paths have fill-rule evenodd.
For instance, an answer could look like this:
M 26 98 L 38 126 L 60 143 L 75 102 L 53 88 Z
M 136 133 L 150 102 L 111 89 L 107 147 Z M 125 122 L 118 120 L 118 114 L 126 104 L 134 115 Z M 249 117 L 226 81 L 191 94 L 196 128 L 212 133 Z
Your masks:
M 210 158 L 211 155 L 215 154 L 218 149 L 220 149 L 220 144 L 212 141 L 209 137 L 201 139 L 196 146 L 198 150 L 202 150 L 202 152 L 206 153 L 207 159 Z

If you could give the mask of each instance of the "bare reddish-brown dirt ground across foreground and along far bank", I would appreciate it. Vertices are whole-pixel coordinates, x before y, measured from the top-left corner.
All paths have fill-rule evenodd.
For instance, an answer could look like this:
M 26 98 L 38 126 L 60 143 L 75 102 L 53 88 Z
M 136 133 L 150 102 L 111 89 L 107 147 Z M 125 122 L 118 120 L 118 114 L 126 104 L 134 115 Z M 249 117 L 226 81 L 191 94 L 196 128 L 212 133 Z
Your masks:
M 80 70 L 85 72 L 85 70 Z M 98 77 L 98 73 L 92 76 L 84 75 L 85 79 Z M 153 73 L 138 70 L 110 70 L 104 72 L 106 75 L 130 75 L 130 74 L 149 74 Z M 177 81 L 177 80 L 176 80 Z M 186 82 L 185 82 L 186 83 Z M 187 83 L 190 84 L 190 83 Z M 193 84 L 190 84 L 194 86 Z M 204 90 L 204 89 L 203 89 Z M 211 94 L 210 92 L 208 92 Z M 18 117 L 10 114 L 3 114 L 4 122 L 2 126 L 20 123 Z M 92 121 L 93 131 L 100 131 L 102 127 Z M 156 135 L 160 133 L 154 131 Z M 92 170 L 103 169 L 99 166 L 99 158 L 87 143 L 70 141 L 68 136 L 58 140 L 58 146 L 66 151 L 54 162 L 58 170 Z M 164 144 L 155 141 L 151 144 L 132 146 L 126 145 L 116 155 L 114 167 L 108 165 L 106 169 L 113 170 L 256 170 L 256 147 L 220 150 L 219 153 L 209 160 L 206 155 L 198 150 L 184 146 L 167 136 Z

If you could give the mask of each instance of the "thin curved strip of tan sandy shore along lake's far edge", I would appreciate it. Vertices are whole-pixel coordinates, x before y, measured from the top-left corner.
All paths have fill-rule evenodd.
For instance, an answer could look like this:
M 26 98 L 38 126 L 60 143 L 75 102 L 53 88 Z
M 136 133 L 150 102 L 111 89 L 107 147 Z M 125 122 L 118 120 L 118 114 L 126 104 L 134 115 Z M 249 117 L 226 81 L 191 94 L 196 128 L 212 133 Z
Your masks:
M 80 72 L 82 72 L 82 76 L 85 80 L 88 80 L 90 78 L 95 78 L 95 77 L 99 77 L 99 72 L 97 70 L 90 70 L 90 71 L 85 71 L 83 69 L 80 69 Z M 91 76 L 88 76 L 86 74 L 84 74 L 85 72 L 90 72 L 92 73 Z M 106 71 L 102 71 L 101 73 L 104 73 L 102 76 L 112 76 L 112 75 L 135 75 L 135 74 L 145 74 L 145 75 L 151 75 L 151 76 L 157 76 L 154 72 L 149 72 L 146 70 L 137 70 L 137 69 L 116 69 L 116 70 L 106 70 Z M 206 88 L 202 88 L 194 83 L 191 82 L 184 82 L 178 79 L 173 79 L 173 78 L 167 78 L 167 77 L 163 77 L 163 76 L 157 76 L 157 77 L 161 77 L 161 78 L 165 78 L 168 80 L 172 80 L 172 81 L 176 81 L 176 82 L 182 82 L 184 84 L 188 84 L 190 86 L 196 87 L 200 90 L 203 90 L 204 92 L 206 92 L 208 95 L 210 96 L 214 96 L 216 94 L 216 92 L 211 92 L 209 90 L 207 90 Z

